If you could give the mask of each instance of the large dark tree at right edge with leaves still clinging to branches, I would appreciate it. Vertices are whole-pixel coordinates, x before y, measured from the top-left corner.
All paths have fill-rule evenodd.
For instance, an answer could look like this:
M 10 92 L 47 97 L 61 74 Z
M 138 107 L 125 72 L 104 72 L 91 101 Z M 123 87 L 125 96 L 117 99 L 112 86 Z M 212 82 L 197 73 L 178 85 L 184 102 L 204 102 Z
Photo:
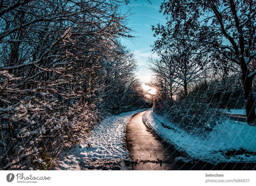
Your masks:
M 256 75 L 253 63 L 256 56 L 256 1 L 164 1 L 161 11 L 167 16 L 167 26 L 153 27 L 156 42 L 163 45 L 172 40 L 187 40 L 204 46 L 200 54 L 217 53 L 240 66 L 246 100 L 247 122 L 254 123 L 256 114 L 252 81 Z M 170 33 L 172 33 L 170 35 Z

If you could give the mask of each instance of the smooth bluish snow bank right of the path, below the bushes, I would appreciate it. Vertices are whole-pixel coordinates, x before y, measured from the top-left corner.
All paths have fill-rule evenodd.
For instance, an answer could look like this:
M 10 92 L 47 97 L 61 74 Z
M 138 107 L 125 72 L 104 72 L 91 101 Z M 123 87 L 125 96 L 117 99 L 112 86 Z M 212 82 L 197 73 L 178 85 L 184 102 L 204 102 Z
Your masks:
M 256 127 L 247 123 L 226 120 L 216 126 L 208 137 L 198 137 L 166 122 L 152 110 L 143 115 L 143 120 L 165 141 L 173 143 L 177 149 L 186 151 L 192 159 L 212 164 L 256 163 Z

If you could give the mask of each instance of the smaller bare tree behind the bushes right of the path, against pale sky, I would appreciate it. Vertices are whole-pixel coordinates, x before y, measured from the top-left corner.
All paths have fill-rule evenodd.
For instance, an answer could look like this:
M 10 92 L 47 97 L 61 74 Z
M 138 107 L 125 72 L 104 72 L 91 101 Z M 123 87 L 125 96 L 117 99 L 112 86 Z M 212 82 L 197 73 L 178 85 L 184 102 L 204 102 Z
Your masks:
M 211 67 L 208 56 L 199 57 L 196 48 L 188 42 L 173 42 L 162 47 L 155 43 L 154 50 L 160 60 L 151 60 L 151 70 L 165 75 L 175 87 L 182 86 L 185 96 L 188 95 L 188 83 L 200 81 Z

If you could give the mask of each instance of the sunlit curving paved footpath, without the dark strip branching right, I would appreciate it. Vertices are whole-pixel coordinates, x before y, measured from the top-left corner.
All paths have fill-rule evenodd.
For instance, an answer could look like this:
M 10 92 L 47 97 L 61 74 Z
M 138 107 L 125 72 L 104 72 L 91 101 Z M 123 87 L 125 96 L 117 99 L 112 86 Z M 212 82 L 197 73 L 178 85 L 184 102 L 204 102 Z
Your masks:
M 126 128 L 126 139 L 133 160 L 133 169 L 170 170 L 178 152 L 172 146 L 166 147 L 148 131 L 142 122 L 142 115 L 145 112 L 135 114 Z

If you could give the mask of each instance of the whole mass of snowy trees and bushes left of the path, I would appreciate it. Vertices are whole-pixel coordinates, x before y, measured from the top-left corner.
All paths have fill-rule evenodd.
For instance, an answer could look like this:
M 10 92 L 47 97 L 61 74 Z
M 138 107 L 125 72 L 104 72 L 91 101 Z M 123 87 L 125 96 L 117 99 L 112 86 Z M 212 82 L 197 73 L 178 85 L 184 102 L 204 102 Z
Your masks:
M 0 169 L 51 169 L 105 116 L 143 107 L 117 0 L 0 3 Z

